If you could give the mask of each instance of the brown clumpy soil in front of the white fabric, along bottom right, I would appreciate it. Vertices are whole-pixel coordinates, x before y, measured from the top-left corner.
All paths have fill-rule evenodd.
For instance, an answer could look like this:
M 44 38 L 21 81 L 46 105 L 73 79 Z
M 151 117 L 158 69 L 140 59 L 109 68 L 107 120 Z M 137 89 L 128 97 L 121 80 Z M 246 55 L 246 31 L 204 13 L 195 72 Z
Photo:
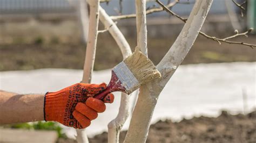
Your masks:
M 120 133 L 123 142 L 126 131 Z M 107 133 L 89 139 L 93 142 L 107 142 Z M 256 111 L 247 115 L 230 115 L 221 112 L 217 118 L 194 117 L 179 123 L 171 120 L 158 121 L 150 126 L 146 142 L 256 142 Z

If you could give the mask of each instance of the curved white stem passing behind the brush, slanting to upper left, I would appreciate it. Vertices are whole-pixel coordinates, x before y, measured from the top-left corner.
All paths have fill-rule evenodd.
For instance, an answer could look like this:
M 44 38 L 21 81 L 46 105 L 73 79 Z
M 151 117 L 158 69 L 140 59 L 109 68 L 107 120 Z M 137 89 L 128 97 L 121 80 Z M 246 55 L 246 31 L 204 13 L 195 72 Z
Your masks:
M 104 24 L 105 28 L 108 28 L 110 34 L 117 42 L 117 45 L 122 52 L 123 59 L 125 59 L 131 54 L 131 48 L 126 39 L 124 38 L 124 35 L 122 34 L 122 32 L 120 32 L 117 25 L 112 21 L 109 15 L 107 15 L 105 10 L 101 7 L 99 8 L 99 19 Z M 121 96 L 122 97 L 118 115 L 108 125 L 109 131 L 107 135 L 107 140 L 109 143 L 119 142 L 120 130 L 122 129 L 126 119 L 129 116 L 130 96 L 125 93 L 122 93 Z

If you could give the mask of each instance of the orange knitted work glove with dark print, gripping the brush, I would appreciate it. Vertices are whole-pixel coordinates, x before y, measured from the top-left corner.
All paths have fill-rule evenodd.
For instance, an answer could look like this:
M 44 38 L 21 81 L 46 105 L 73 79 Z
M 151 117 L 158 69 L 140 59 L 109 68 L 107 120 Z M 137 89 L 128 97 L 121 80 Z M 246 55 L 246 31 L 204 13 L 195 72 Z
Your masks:
M 104 112 L 105 103 L 112 103 L 113 94 L 103 101 L 92 98 L 106 89 L 106 84 L 77 83 L 57 92 L 47 92 L 44 97 L 44 120 L 58 121 L 74 128 L 85 128 L 91 120 Z

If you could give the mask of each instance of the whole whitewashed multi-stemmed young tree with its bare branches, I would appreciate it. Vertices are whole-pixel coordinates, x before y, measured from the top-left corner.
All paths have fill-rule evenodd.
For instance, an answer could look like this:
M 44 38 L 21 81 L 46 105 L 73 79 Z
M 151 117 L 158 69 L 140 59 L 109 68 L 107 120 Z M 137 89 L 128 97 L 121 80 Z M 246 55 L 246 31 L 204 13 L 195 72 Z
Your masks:
M 213 0 L 197 0 L 190 13 L 188 19 L 182 18 L 169 8 L 179 3 L 178 0 L 173 2 L 169 1 L 169 4 L 164 5 L 159 0 L 156 3 L 159 4 L 159 8 L 146 9 L 146 0 L 135 0 L 136 2 L 136 14 L 132 15 L 119 15 L 110 17 L 107 13 L 99 6 L 99 0 L 87 0 L 90 5 L 90 23 L 89 23 L 89 37 L 88 45 L 86 48 L 86 58 L 84 66 L 83 81 L 90 83 L 91 74 L 93 69 L 93 63 L 95 60 L 95 49 L 97 34 L 105 31 L 109 31 L 114 40 L 116 40 L 120 50 L 122 51 L 123 58 L 125 59 L 131 54 L 131 48 L 124 38 L 124 35 L 120 32 L 117 25 L 113 20 L 135 18 L 137 27 L 137 46 L 140 48 L 145 55 L 147 55 L 147 28 L 146 28 L 146 15 L 165 10 L 171 15 L 182 20 L 185 25 L 181 30 L 174 44 L 171 46 L 169 51 L 165 54 L 164 58 L 158 63 L 157 69 L 160 71 L 162 77 L 144 84 L 140 87 L 138 101 L 134 108 L 129 130 L 126 134 L 125 142 L 145 142 L 147 134 L 149 132 L 150 121 L 153 115 L 154 108 L 158 101 L 160 92 L 165 87 L 165 84 L 170 80 L 173 73 L 179 67 L 187 53 L 193 46 L 198 34 L 203 35 L 206 38 L 210 38 L 214 41 L 227 42 L 230 44 L 240 44 L 243 46 L 256 47 L 253 44 L 247 44 L 245 42 L 231 41 L 230 39 L 241 35 L 246 35 L 252 30 L 239 33 L 236 31 L 234 35 L 227 38 L 216 38 L 201 32 L 201 27 L 204 24 L 205 18 L 208 11 L 210 10 Z M 237 3 L 238 4 L 238 3 Z M 120 0 L 122 5 L 122 0 Z M 238 4 L 239 8 L 242 4 Z M 98 31 L 98 20 L 104 24 L 106 30 Z M 143 112 L 142 112 L 143 109 Z M 121 104 L 118 112 L 118 116 L 109 123 L 109 142 L 119 142 L 120 130 L 129 115 L 129 96 L 122 94 Z M 78 131 L 80 132 L 80 131 Z M 85 138 L 82 138 L 79 142 L 86 142 Z

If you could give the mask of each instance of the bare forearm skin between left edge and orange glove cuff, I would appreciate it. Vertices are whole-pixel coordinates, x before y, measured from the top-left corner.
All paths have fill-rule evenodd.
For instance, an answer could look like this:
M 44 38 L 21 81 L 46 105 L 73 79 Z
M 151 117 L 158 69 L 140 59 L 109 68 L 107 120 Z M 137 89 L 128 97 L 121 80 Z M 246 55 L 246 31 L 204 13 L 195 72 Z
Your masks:
M 0 124 L 44 120 L 44 95 L 19 95 L 0 90 Z

